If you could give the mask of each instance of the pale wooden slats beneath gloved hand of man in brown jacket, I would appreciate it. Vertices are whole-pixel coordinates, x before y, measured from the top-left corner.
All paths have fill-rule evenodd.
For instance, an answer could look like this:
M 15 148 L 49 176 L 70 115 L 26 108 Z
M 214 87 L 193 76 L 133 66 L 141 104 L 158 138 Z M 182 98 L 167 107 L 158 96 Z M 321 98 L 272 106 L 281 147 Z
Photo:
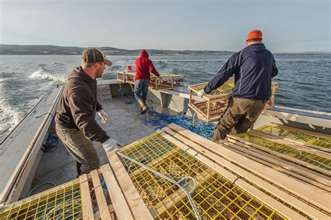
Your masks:
M 115 152 L 108 153 L 112 162 L 101 166 L 100 170 L 93 170 L 87 175 L 80 176 L 82 193 L 83 219 L 152 219 L 152 215 L 145 207 L 132 183 L 128 182 L 128 175 Z M 110 197 L 109 205 L 105 191 L 100 182 L 103 176 Z M 98 212 L 94 213 L 91 191 L 95 193 Z

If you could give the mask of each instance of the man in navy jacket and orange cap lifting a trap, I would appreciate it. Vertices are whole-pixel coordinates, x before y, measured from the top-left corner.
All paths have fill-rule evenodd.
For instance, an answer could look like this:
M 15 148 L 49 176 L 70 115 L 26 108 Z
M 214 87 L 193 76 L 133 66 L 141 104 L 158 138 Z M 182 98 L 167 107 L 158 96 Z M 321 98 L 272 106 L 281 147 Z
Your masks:
M 228 107 L 215 127 L 213 141 L 228 133 L 244 133 L 253 126 L 271 96 L 271 78 L 278 73 L 272 53 L 262 43 L 260 30 L 249 32 L 247 47 L 233 54 L 199 96 L 209 94 L 235 75 L 235 87 Z

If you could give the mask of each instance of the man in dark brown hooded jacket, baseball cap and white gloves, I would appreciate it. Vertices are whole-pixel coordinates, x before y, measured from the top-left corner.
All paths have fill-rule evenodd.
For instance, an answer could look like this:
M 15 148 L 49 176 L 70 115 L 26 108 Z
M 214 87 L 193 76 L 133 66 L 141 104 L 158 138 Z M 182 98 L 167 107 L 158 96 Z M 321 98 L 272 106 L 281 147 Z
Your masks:
M 95 119 L 97 112 L 103 123 L 108 121 L 108 115 L 96 96 L 96 78 L 101 78 L 105 65 L 110 66 L 112 62 L 105 58 L 101 50 L 94 47 L 85 50 L 82 66 L 75 68 L 68 76 L 68 83 L 57 107 L 57 135 L 77 160 L 78 175 L 100 167 L 92 141 L 101 142 L 106 152 L 121 147 L 119 142 L 101 129 Z

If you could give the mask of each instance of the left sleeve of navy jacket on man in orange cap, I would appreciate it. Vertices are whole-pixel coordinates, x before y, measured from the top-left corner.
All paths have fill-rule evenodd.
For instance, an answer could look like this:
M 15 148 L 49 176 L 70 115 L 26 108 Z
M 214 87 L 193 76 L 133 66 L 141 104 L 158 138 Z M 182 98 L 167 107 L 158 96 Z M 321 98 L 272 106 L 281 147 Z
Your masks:
M 219 73 L 217 73 L 205 86 L 205 93 L 209 94 L 210 91 L 217 89 L 223 85 L 223 83 L 226 82 L 233 75 L 233 73 L 239 71 L 239 54 L 239 52 L 233 54 L 228 61 L 226 61 L 226 64 L 224 64 Z

